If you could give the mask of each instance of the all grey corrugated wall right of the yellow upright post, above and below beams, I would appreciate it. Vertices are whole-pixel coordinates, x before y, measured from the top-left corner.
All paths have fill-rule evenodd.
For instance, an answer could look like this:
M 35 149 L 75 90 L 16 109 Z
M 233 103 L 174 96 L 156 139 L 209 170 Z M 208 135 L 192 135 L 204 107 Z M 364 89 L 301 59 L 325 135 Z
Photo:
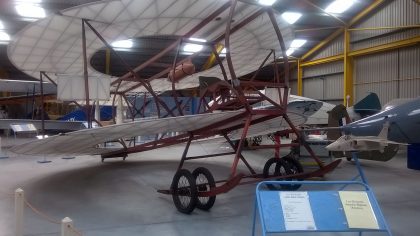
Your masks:
M 353 28 L 420 24 L 420 5 L 412 0 L 394 0 Z M 373 47 L 420 35 L 420 28 L 351 32 L 351 49 Z M 368 92 L 381 103 L 395 98 L 420 96 L 420 46 L 356 57 L 354 91 L 359 100 Z

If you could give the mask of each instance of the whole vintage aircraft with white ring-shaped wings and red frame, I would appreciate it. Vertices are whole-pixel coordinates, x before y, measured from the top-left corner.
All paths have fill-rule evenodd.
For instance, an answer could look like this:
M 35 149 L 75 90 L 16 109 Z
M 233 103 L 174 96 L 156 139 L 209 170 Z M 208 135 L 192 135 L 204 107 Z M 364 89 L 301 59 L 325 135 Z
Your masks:
M 85 29 L 86 27 L 86 29 Z M 39 29 L 42 34 L 36 34 Z M 36 31 L 36 32 L 38 32 Z M 160 193 L 172 195 L 176 208 L 190 213 L 195 208 L 208 210 L 215 203 L 216 195 L 226 193 L 237 185 L 255 183 L 263 179 L 307 179 L 324 176 L 334 170 L 341 160 L 324 164 L 311 148 L 302 142 L 296 126 L 319 110 L 318 101 L 289 99 L 289 62 L 286 44 L 292 39 L 292 30 L 271 7 L 237 0 L 119 0 L 102 1 L 61 11 L 34 22 L 9 45 L 11 61 L 32 76 L 57 81 L 60 74 L 83 75 L 85 79 L 86 107 L 89 110 L 89 83 L 91 76 L 103 76 L 88 63 L 93 53 L 104 45 L 118 56 L 110 42 L 148 35 L 176 35 L 176 40 L 135 68 L 126 65 L 127 73 L 111 82 L 111 94 L 126 97 L 128 93 L 148 92 L 160 109 L 157 118 L 135 120 L 129 123 L 80 130 L 51 136 L 12 148 L 26 155 L 99 154 L 103 159 L 126 157 L 128 154 L 148 151 L 175 144 L 185 144 L 185 150 L 168 190 Z M 80 37 L 82 36 L 82 37 Z M 205 38 L 196 41 L 191 37 Z M 286 41 L 286 42 L 285 42 Z M 212 52 L 215 66 L 192 73 L 191 60 L 200 52 L 181 59 L 180 48 L 197 44 Z M 221 56 L 222 44 L 226 49 Z M 222 48 L 223 48 L 222 47 Z M 160 72 L 141 78 L 139 72 L 158 64 L 164 55 L 174 53 L 173 63 Z M 279 55 L 284 73 L 281 74 Z M 123 61 L 122 57 L 119 57 Z M 272 81 L 257 80 L 262 67 L 270 64 L 274 69 Z M 159 64 L 161 66 L 161 64 Z M 240 80 L 253 73 L 252 78 Z M 200 114 L 183 115 L 179 103 L 170 109 L 158 96 L 161 91 L 172 91 L 198 86 L 199 77 L 222 77 L 219 82 L 201 91 L 197 111 Z M 260 90 L 265 89 L 263 93 Z M 213 102 L 209 102 L 212 98 Z M 263 106 L 256 107 L 256 104 Z M 162 118 L 163 113 L 169 114 Z M 163 134 L 150 142 L 126 145 L 125 138 Z M 247 137 L 274 133 L 274 145 L 259 148 L 289 148 L 299 143 L 281 144 L 282 135 L 295 134 L 316 161 L 316 170 L 305 172 L 297 159 L 269 159 L 262 173 L 252 167 L 242 155 Z M 214 136 L 223 137 L 233 151 L 219 154 L 189 156 L 191 143 Z M 122 148 L 100 148 L 105 142 L 120 140 Z M 278 152 L 276 152 L 278 153 Z M 230 173 L 225 180 L 215 180 L 205 167 L 193 171 L 184 169 L 188 160 L 215 156 L 234 156 Z M 249 173 L 238 173 L 243 162 Z M 289 186 L 294 189 L 299 186 Z

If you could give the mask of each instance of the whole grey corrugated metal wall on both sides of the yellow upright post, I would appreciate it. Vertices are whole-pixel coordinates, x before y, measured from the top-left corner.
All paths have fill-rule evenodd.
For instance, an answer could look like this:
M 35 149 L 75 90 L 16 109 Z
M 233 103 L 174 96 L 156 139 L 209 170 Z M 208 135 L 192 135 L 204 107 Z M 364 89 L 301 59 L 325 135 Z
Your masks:
M 420 24 L 420 5 L 413 0 L 388 1 L 352 28 Z M 420 35 L 420 28 L 351 32 L 351 50 L 368 48 Z M 343 53 L 343 37 L 333 40 L 309 60 Z M 376 92 L 384 104 L 395 98 L 420 96 L 420 46 L 354 58 L 355 101 Z M 343 98 L 343 62 L 303 68 L 303 95 L 321 100 Z

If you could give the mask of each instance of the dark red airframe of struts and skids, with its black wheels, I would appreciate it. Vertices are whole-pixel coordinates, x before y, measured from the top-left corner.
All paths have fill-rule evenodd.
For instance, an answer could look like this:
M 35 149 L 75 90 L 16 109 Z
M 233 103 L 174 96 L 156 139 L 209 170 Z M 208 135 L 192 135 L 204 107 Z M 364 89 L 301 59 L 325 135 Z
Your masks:
M 237 0 L 231 0 L 227 2 L 222 7 L 214 11 L 211 15 L 205 18 L 201 23 L 197 26 L 192 28 L 187 34 L 183 37 L 179 38 L 176 42 L 162 50 L 160 53 L 156 54 L 143 64 L 137 66 L 136 68 L 130 68 L 128 64 L 124 63 L 127 67 L 128 72 L 121 76 L 119 79 L 114 81 L 112 84 L 117 85 L 117 90 L 114 92 L 114 95 L 121 95 L 126 100 L 127 104 L 128 99 L 126 94 L 140 86 L 146 88 L 148 93 L 154 98 L 154 102 L 158 108 L 158 115 L 160 116 L 160 108 L 163 108 L 169 115 L 175 116 L 174 112 L 170 110 L 167 105 L 157 96 L 154 92 L 152 86 L 150 85 L 150 81 L 154 79 L 161 78 L 168 73 L 176 74 L 176 69 L 181 68 L 180 65 L 186 63 L 191 60 L 191 58 L 197 56 L 197 53 L 188 56 L 183 60 L 178 60 L 178 54 L 175 56 L 173 65 L 163 69 L 161 72 L 151 76 L 148 79 L 140 79 L 137 72 L 141 71 L 142 69 L 146 68 L 147 66 L 156 63 L 161 57 L 165 54 L 170 52 L 171 50 L 179 47 L 179 45 L 183 42 L 188 42 L 188 38 L 191 37 L 194 33 L 199 31 L 202 27 L 208 24 L 210 21 L 215 19 L 218 15 L 220 15 L 225 10 L 229 9 L 229 18 L 227 19 L 226 23 L 226 31 L 224 34 L 220 35 L 217 39 L 213 42 L 203 42 L 203 45 L 210 47 L 216 57 L 216 61 L 218 66 L 222 71 L 222 75 L 224 80 L 215 83 L 209 86 L 204 92 L 201 94 L 200 105 L 198 111 L 205 110 L 205 112 L 213 112 L 213 111 L 225 111 L 225 110 L 241 110 L 242 112 L 238 115 L 233 117 L 227 118 L 223 121 L 219 121 L 213 124 L 208 125 L 207 127 L 200 128 L 197 130 L 192 130 L 188 133 L 172 136 L 172 137 L 159 137 L 156 138 L 152 142 L 139 144 L 131 147 L 126 147 L 119 151 L 113 151 L 106 154 L 102 154 L 102 159 L 106 158 L 113 158 L 113 157 L 121 157 L 124 158 L 130 153 L 142 152 L 152 149 L 157 149 L 160 147 L 166 147 L 174 144 L 186 143 L 185 150 L 181 157 L 177 172 L 173 178 L 172 184 L 170 189 L 168 190 L 159 190 L 160 193 L 164 194 L 171 194 L 173 197 L 173 201 L 175 206 L 180 212 L 183 213 L 190 213 L 195 208 L 208 210 L 210 209 L 216 199 L 216 195 L 221 193 L 226 193 L 230 191 L 237 185 L 248 184 L 248 183 L 255 183 L 259 182 L 264 179 L 307 179 L 310 177 L 315 176 L 323 176 L 326 173 L 334 170 L 340 160 L 335 160 L 328 165 L 324 165 L 322 161 L 316 157 L 314 152 L 311 148 L 304 142 L 301 137 L 299 130 L 294 126 L 290 118 L 287 114 L 287 104 L 288 104 L 288 88 L 289 88 L 289 62 L 286 55 L 286 47 L 283 42 L 283 38 L 281 32 L 277 26 L 274 13 L 270 7 L 262 7 L 259 11 L 255 12 L 254 14 L 250 15 L 249 17 L 245 18 L 243 21 L 237 23 L 234 27 L 231 27 L 232 17 L 235 11 L 235 6 L 237 4 Z M 260 68 L 254 73 L 251 80 L 248 81 L 241 81 L 236 77 L 234 71 L 234 62 L 232 61 L 229 45 L 230 45 L 230 35 L 244 27 L 249 22 L 256 19 L 261 14 L 268 14 L 270 21 L 273 25 L 273 30 L 276 32 L 278 42 L 282 49 L 282 57 L 283 57 L 283 65 L 284 65 L 284 75 L 283 78 L 280 78 L 280 74 L 278 72 L 278 64 L 276 62 L 276 55 L 274 51 L 271 51 L 265 60 L 261 63 Z M 124 60 L 118 55 L 116 51 L 110 46 L 108 42 L 92 27 L 88 20 L 83 20 L 83 35 L 85 34 L 84 26 L 87 25 L 97 36 L 98 38 L 113 52 L 115 53 L 121 61 Z M 216 50 L 216 43 L 220 42 L 221 40 L 225 41 L 225 48 L 227 49 L 226 52 L 226 62 L 228 65 L 227 70 L 224 68 L 222 60 L 219 58 L 219 55 Z M 199 42 L 194 42 L 199 43 Z M 87 63 L 86 59 L 86 44 L 83 45 L 83 52 L 85 56 L 85 64 Z M 274 79 L 272 82 L 261 82 L 256 81 L 255 79 L 258 76 L 261 68 L 266 64 L 270 57 L 274 58 Z M 230 80 L 228 80 L 228 74 L 230 75 Z M 41 75 L 42 76 L 42 75 Z M 87 66 L 85 66 L 85 79 L 87 80 Z M 124 81 L 131 81 L 137 82 L 136 85 L 132 86 L 129 89 L 125 89 L 124 91 L 118 91 L 119 85 Z M 177 92 L 175 91 L 175 82 L 176 79 L 172 79 L 172 89 L 175 99 L 175 104 L 177 104 L 178 113 L 182 115 L 182 107 L 179 105 Z M 261 93 L 259 89 L 261 88 L 274 88 L 278 91 L 278 99 L 269 98 L 265 94 Z M 253 91 L 254 95 L 249 96 L 248 91 Z M 89 96 L 88 90 L 86 91 L 86 104 L 87 104 L 87 114 L 90 114 L 90 105 L 89 105 Z M 114 96 L 114 102 L 115 102 Z M 205 99 L 206 97 L 213 97 L 213 102 L 210 104 Z M 255 109 L 251 105 L 257 102 L 268 102 L 271 104 L 269 109 Z M 242 150 L 244 147 L 244 143 L 247 137 L 247 132 L 250 126 L 265 122 L 274 118 L 283 117 L 283 119 L 287 122 L 290 128 L 285 130 L 279 130 L 275 133 L 275 144 L 274 145 L 261 145 L 259 148 L 274 148 L 276 150 L 276 156 L 269 159 L 265 166 L 263 173 L 257 173 L 253 167 L 247 162 L 245 157 L 242 155 Z M 88 116 L 88 121 L 90 122 L 91 118 Z M 233 141 L 228 137 L 229 132 L 235 130 L 242 130 L 241 138 L 237 141 Z M 291 143 L 291 144 L 280 144 L 278 137 L 282 135 L 288 134 L 295 134 L 297 140 L 300 143 Z M 197 139 L 204 139 L 211 136 L 220 135 L 223 136 L 226 141 L 230 144 L 233 148 L 233 152 L 227 153 L 219 153 L 219 154 L 210 154 L 210 155 L 201 155 L 201 156 L 188 156 L 188 150 L 190 144 L 193 140 Z M 123 143 L 123 142 L 122 142 Z M 312 172 L 304 172 L 301 164 L 297 159 L 293 156 L 286 156 L 280 158 L 278 155 L 278 149 L 283 147 L 292 147 L 296 145 L 303 145 L 308 152 L 310 153 L 311 157 L 316 161 L 318 165 L 318 169 Z M 208 157 L 215 157 L 215 156 L 222 156 L 222 155 L 234 155 L 234 159 L 232 162 L 231 170 L 229 173 L 229 177 L 226 180 L 219 180 L 215 181 L 214 177 L 212 176 L 211 172 L 204 168 L 198 167 L 194 171 L 190 172 L 187 169 L 183 169 L 184 162 L 187 160 L 192 159 L 199 159 L 199 158 L 208 158 Z M 249 174 L 237 173 L 237 167 L 239 161 L 242 161 L 249 170 Z M 274 171 L 272 168 L 274 167 Z M 274 186 L 271 186 L 274 187 Z M 284 187 L 284 186 L 283 186 Z M 299 186 L 286 186 L 287 189 L 296 189 Z

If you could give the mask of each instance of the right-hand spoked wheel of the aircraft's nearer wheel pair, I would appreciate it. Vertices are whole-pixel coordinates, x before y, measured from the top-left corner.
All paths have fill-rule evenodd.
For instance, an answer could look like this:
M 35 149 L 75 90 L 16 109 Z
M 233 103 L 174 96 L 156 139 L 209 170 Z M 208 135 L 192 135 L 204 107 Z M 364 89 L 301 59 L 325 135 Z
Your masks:
M 207 191 L 210 191 L 212 188 L 216 187 L 216 182 L 214 181 L 213 175 L 208 169 L 204 167 L 198 167 L 197 169 L 193 171 L 192 175 L 195 178 L 195 184 L 197 186 L 198 193 L 207 192 Z M 216 196 L 211 196 L 211 197 L 197 196 L 196 207 L 198 209 L 207 211 L 213 207 L 215 201 L 216 201 Z

